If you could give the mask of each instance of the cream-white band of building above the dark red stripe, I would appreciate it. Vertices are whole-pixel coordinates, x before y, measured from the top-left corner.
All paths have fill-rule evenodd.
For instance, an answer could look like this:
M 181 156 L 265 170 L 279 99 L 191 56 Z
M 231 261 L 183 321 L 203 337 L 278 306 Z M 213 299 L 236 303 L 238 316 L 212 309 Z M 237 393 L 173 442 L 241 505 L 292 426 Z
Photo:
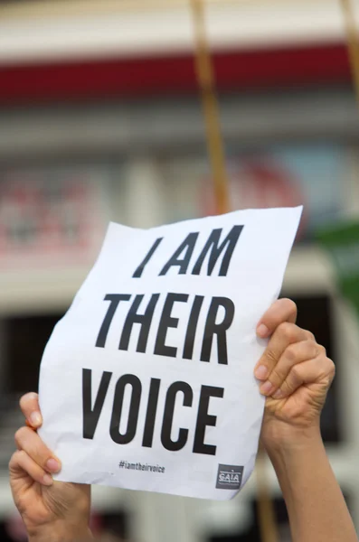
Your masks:
M 1 6 L 0 64 L 192 51 L 189 2 L 148 0 L 148 5 L 58 0 Z M 210 0 L 207 5 L 208 35 L 217 50 L 345 39 L 337 0 Z

